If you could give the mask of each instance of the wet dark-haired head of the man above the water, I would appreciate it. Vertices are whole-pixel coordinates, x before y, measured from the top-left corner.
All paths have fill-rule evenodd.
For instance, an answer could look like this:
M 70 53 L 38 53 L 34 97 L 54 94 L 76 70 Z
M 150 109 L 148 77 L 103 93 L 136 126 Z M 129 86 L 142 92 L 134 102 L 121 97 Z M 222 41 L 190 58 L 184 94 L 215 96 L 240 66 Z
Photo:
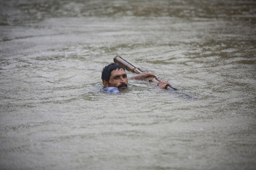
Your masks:
M 105 87 L 127 88 L 127 74 L 124 67 L 116 63 L 105 66 L 102 70 L 101 79 Z

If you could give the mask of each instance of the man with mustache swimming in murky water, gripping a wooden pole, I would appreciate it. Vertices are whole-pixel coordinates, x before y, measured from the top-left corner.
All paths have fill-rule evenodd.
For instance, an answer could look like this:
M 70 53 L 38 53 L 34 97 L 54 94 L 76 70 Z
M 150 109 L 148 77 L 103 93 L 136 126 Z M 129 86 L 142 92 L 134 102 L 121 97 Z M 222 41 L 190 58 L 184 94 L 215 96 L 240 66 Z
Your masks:
M 131 79 L 143 80 L 143 78 L 146 78 L 147 76 L 157 78 L 157 76 L 152 73 L 143 72 L 132 76 Z M 105 66 L 105 68 L 102 70 L 101 79 L 103 86 L 106 87 L 104 91 L 119 92 L 119 90 L 127 88 L 127 74 L 124 67 L 120 66 L 119 64 L 111 63 L 108 66 Z M 171 84 L 161 80 L 157 86 L 158 88 L 166 88 L 167 86 L 171 86 Z

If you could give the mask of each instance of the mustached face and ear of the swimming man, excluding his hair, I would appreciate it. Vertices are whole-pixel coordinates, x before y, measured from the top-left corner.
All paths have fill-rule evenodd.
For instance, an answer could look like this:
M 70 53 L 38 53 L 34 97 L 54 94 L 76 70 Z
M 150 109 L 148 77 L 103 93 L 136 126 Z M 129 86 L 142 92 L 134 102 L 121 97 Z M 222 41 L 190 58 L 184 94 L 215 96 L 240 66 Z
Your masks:
M 127 74 L 122 68 L 120 68 L 119 70 L 117 68 L 116 70 L 113 70 L 111 72 L 109 83 L 106 80 L 104 81 L 103 84 L 105 87 L 116 87 L 118 89 L 127 88 L 128 83 Z

